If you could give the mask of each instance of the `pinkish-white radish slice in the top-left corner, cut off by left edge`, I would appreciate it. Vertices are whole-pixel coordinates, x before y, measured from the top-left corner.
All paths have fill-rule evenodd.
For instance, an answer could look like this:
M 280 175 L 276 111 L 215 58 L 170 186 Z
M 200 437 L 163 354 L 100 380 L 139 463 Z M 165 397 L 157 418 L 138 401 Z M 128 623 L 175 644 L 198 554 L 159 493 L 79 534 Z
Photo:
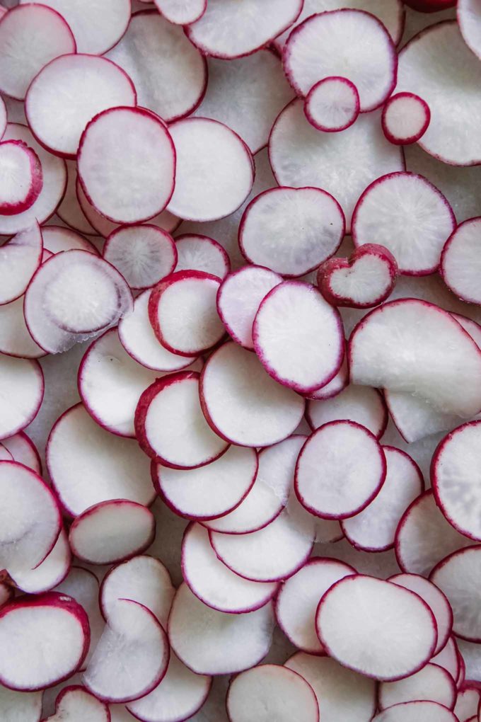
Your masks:
M 23 100 L 35 75 L 53 58 L 76 53 L 63 15 L 29 3 L 12 8 L 0 22 L 0 90 Z

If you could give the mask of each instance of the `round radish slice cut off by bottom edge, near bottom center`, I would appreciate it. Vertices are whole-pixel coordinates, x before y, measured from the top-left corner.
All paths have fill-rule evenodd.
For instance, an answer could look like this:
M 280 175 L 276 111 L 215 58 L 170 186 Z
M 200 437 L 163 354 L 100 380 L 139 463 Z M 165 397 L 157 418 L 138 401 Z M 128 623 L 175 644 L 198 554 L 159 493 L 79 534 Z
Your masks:
M 226 708 L 231 722 L 319 722 L 319 706 L 309 682 L 276 664 L 252 667 L 234 677 Z

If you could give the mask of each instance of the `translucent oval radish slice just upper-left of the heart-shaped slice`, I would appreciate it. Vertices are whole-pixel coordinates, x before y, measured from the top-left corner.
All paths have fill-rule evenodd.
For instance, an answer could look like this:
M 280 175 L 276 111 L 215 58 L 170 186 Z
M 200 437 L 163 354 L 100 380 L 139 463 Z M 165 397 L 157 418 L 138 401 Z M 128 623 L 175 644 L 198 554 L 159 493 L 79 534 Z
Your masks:
M 330 193 L 319 188 L 272 188 L 244 211 L 239 248 L 252 264 L 283 276 L 302 276 L 340 246 L 345 218 Z

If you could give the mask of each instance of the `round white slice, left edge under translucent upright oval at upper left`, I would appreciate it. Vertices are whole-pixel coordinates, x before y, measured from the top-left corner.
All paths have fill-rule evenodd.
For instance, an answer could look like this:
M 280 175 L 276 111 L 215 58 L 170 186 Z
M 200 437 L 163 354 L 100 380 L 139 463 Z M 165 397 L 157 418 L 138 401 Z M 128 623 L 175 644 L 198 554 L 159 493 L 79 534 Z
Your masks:
M 212 221 L 242 206 L 255 171 L 250 150 L 237 133 L 210 118 L 177 121 L 169 132 L 177 153 L 169 211 L 180 218 Z

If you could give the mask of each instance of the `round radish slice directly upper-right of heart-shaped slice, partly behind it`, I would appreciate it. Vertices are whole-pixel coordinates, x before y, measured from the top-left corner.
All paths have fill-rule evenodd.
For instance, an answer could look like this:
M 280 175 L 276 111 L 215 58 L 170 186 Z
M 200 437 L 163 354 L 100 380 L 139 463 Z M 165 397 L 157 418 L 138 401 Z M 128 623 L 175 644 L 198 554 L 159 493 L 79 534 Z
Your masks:
M 391 251 L 401 273 L 431 274 L 456 219 L 443 194 L 422 175 L 391 173 L 371 183 L 353 213 L 353 241 Z

